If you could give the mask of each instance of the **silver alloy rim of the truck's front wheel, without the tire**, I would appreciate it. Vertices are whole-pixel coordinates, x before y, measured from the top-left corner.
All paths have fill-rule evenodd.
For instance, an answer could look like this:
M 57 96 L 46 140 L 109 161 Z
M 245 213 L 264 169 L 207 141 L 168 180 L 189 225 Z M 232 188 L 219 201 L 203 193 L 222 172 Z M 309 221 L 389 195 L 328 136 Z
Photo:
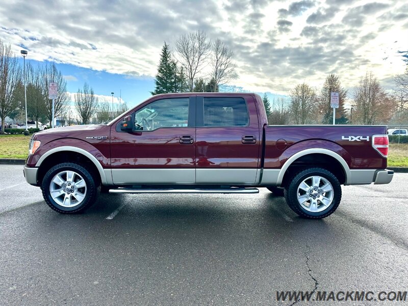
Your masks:
M 77 172 L 61 171 L 49 183 L 49 193 L 58 205 L 75 207 L 85 199 L 86 183 Z

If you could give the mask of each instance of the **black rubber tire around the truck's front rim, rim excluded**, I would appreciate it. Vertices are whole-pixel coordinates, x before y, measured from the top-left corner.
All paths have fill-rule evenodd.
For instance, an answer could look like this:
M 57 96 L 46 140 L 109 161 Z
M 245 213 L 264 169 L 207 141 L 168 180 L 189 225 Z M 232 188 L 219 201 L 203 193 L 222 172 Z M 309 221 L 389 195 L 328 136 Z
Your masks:
M 50 184 L 52 180 L 58 173 L 66 170 L 73 171 L 81 175 L 86 184 L 86 191 L 84 191 L 85 193 L 84 199 L 78 205 L 75 205 L 73 207 L 61 206 L 56 200 L 53 199 L 53 197 L 50 194 Z M 56 212 L 59 212 L 61 214 L 74 214 L 82 212 L 88 207 L 90 207 L 95 202 L 97 197 L 97 185 L 94 179 L 92 178 L 91 172 L 84 166 L 74 163 L 62 163 L 49 169 L 47 173 L 45 173 L 44 179 L 42 180 L 41 190 L 42 196 L 44 197 L 44 200 L 47 203 L 47 205 Z

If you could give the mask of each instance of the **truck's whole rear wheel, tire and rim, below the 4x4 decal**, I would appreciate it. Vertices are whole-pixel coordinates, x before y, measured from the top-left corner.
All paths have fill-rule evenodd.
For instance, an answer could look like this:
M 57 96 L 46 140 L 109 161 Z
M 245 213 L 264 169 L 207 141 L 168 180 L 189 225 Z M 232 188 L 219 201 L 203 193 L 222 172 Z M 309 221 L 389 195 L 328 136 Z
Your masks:
M 309 168 L 297 173 L 285 188 L 289 207 L 299 216 L 321 219 L 333 214 L 341 200 L 337 177 L 322 168 Z

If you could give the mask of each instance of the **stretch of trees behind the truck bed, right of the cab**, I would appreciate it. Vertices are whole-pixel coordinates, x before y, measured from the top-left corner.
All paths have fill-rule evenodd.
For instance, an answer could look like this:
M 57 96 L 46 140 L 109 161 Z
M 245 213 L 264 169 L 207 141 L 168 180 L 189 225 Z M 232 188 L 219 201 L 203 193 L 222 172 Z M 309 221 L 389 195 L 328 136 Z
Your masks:
M 263 102 L 270 124 L 331 124 L 330 93 L 339 93 L 336 124 L 408 124 L 408 67 L 394 78 L 394 88 L 386 91 L 372 72 L 366 72 L 348 98 L 338 75 L 328 74 L 317 90 L 307 83 L 296 85 L 289 98 Z M 349 109 L 345 108 L 345 104 Z

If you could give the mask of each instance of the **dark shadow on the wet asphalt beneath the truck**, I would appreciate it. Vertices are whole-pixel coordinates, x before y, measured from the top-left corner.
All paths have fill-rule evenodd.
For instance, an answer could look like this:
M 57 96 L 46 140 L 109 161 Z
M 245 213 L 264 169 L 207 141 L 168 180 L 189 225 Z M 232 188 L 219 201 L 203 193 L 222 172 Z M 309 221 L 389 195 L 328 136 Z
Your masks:
M 118 209 L 113 219 L 106 219 Z M 330 245 L 339 233 L 338 228 L 332 228 L 329 219 L 300 218 L 290 210 L 283 197 L 270 194 L 260 194 L 256 199 L 223 195 L 104 194 L 94 206 L 77 217 L 96 217 L 104 226 L 109 224 L 119 232 L 126 228 L 137 235 L 156 229 L 166 235 L 189 237 L 238 235 L 275 241 L 296 237 L 303 244 L 315 236 L 311 233 L 316 233 L 318 239 Z

